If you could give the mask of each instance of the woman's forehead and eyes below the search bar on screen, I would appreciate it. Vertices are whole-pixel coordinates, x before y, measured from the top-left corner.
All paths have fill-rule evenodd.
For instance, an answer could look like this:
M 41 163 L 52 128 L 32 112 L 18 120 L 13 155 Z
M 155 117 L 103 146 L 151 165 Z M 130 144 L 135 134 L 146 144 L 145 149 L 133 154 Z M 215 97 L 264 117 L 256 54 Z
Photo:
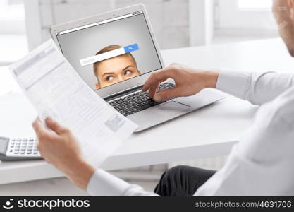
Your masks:
M 130 54 L 111 57 L 94 64 L 94 75 L 97 78 L 96 88 L 104 88 L 114 83 L 139 76 L 135 58 Z

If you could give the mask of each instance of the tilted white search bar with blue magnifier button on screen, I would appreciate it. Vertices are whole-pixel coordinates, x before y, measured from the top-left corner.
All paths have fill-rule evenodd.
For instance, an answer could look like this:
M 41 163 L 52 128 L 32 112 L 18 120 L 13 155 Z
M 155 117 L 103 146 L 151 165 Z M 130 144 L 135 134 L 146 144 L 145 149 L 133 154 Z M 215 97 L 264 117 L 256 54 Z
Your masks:
M 104 59 L 109 59 L 111 57 L 116 57 L 116 56 L 121 55 L 121 54 L 137 51 L 137 49 L 139 49 L 139 47 L 135 43 L 133 45 L 128 45 L 128 46 L 125 46 L 125 47 L 121 47 L 119 49 L 114 49 L 114 50 L 109 51 L 109 52 L 105 52 L 105 53 L 102 53 L 102 54 L 97 54 L 97 55 L 92 56 L 92 57 L 87 57 L 85 59 L 80 59 L 80 65 L 81 66 L 87 66 L 87 65 L 90 65 L 90 64 L 94 64 L 97 61 L 102 61 Z

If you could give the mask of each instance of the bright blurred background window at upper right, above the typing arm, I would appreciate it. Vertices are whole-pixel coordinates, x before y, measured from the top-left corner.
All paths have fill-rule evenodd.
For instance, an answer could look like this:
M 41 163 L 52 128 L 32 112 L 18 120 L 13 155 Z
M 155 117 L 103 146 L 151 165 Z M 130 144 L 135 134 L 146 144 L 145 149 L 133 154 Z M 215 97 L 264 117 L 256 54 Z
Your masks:
M 214 0 L 214 42 L 278 37 L 271 0 Z

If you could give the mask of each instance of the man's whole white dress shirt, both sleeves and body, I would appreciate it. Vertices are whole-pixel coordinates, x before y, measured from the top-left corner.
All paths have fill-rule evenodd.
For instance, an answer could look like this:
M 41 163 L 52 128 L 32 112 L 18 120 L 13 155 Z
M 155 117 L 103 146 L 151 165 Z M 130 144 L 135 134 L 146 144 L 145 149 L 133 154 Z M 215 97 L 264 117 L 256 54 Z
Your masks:
M 219 73 L 217 89 L 262 106 L 224 167 L 195 196 L 294 195 L 293 85 L 290 73 Z M 92 196 L 157 196 L 101 169 L 92 175 L 87 192 Z

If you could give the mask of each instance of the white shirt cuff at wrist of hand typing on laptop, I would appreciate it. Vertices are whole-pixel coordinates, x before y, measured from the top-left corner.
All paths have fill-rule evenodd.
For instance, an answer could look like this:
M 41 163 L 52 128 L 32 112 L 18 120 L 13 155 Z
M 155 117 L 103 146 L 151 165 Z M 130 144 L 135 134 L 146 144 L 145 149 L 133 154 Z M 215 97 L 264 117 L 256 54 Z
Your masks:
M 250 82 L 250 73 L 236 71 L 220 71 L 216 88 L 238 98 L 244 99 Z

